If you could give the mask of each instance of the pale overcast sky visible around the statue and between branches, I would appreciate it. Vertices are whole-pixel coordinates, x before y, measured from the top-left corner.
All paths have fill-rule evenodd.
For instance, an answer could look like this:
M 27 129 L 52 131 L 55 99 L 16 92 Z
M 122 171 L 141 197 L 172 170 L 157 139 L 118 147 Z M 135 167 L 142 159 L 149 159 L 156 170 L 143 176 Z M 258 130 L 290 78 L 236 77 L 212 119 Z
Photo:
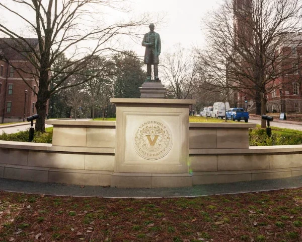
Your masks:
M 0 0 L 3 3 L 9 3 L 11 0 Z M 149 12 L 152 15 L 160 14 L 165 16 L 164 23 L 156 26 L 155 31 L 161 35 L 162 40 L 162 53 L 168 51 L 169 48 L 173 49 L 173 45 L 181 43 L 183 47 L 200 46 L 204 44 L 204 34 L 201 30 L 201 20 L 205 17 L 207 11 L 217 8 L 221 4 L 222 0 L 131 0 L 130 9 L 134 16 L 140 16 L 143 13 Z M 15 6 L 16 8 L 20 5 Z M 14 8 L 15 8 L 14 7 Z M 13 9 L 14 9 L 13 8 Z M 18 8 L 20 11 L 20 8 Z M 3 11 L 0 11 L 0 15 Z M 28 12 L 22 11 L 22 14 L 26 16 Z M 20 21 L 17 18 L 12 18 L 12 14 L 2 15 L 4 18 L 0 20 L 2 23 L 8 24 L 14 30 L 22 35 L 22 29 Z M 118 19 L 121 13 L 114 11 L 108 21 L 114 21 Z M 33 18 L 34 16 L 26 16 L 27 18 Z M 149 31 L 148 27 L 141 30 L 144 33 Z M 131 42 L 131 41 L 129 41 Z M 141 41 L 138 43 L 128 43 L 128 48 L 133 49 L 139 56 L 144 54 L 144 47 L 141 46 Z

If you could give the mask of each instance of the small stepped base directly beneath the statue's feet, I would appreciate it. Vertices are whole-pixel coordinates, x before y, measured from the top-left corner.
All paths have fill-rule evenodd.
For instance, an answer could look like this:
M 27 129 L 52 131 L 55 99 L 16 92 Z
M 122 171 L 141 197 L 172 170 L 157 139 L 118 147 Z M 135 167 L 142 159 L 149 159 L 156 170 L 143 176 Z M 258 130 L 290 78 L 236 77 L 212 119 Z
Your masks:
M 139 91 L 140 98 L 165 98 L 166 87 L 161 82 L 144 82 Z

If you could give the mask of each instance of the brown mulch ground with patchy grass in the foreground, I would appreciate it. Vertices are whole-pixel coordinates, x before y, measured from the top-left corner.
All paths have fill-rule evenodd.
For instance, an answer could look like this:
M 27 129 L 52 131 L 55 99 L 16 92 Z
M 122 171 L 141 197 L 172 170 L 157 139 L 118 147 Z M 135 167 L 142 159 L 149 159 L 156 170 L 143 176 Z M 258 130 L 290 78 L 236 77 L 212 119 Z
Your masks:
M 0 192 L 0 241 L 302 241 L 302 189 L 104 199 Z

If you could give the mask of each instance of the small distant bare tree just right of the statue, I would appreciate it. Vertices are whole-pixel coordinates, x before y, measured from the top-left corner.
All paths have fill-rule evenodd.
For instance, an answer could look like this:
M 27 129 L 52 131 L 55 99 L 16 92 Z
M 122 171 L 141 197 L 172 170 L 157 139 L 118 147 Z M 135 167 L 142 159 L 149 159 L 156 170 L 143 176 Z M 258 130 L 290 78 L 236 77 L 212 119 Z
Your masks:
M 191 98 L 190 91 L 197 70 L 192 56 L 190 50 L 178 44 L 173 53 L 167 52 L 161 59 L 161 72 L 168 83 L 168 92 L 174 98 Z

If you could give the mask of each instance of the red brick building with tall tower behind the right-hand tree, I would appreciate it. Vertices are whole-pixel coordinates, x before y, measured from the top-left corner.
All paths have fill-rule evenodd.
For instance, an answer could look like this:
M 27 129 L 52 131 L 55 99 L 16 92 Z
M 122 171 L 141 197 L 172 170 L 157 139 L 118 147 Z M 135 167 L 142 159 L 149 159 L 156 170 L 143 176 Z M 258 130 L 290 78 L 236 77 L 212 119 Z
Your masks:
M 250 46 L 249 33 L 249 16 L 244 11 L 251 8 L 251 0 L 235 0 L 234 11 L 235 21 L 235 45 L 247 49 Z M 302 33 L 284 33 L 278 52 L 279 63 L 274 68 L 281 70 L 283 73 L 279 78 L 271 81 L 266 85 L 266 110 L 267 112 L 301 112 L 302 111 Z M 277 59 L 276 59 L 277 60 Z M 249 66 L 245 63 L 242 65 L 248 72 Z M 249 81 L 243 86 L 249 86 Z M 252 85 L 252 83 L 251 83 Z M 235 106 L 247 108 L 251 113 L 256 112 L 255 93 L 253 89 L 240 89 L 235 92 Z

